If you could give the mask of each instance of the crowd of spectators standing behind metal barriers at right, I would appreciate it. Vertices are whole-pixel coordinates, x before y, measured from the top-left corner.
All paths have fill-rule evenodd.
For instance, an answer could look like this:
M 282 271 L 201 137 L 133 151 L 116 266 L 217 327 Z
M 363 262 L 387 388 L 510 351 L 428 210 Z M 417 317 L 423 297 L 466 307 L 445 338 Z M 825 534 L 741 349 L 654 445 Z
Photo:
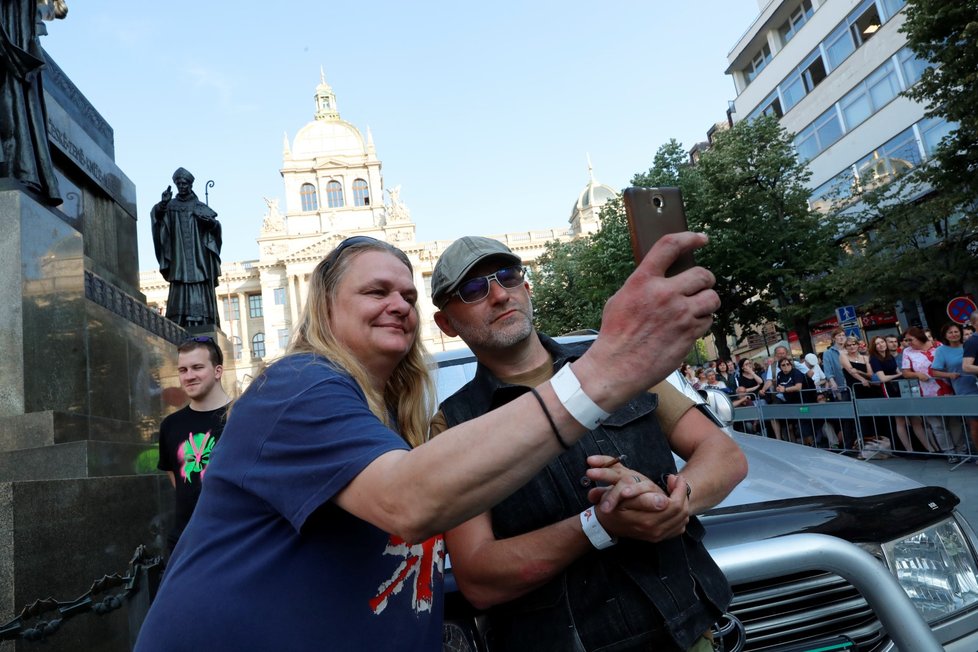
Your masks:
M 945 324 L 938 337 L 914 326 L 902 334 L 876 335 L 867 342 L 831 333 L 832 345 L 794 359 L 779 345 L 774 357 L 715 360 L 701 368 L 683 363 L 680 372 L 696 389 L 731 395 L 735 407 L 824 403 L 900 397 L 978 397 L 978 313 L 968 323 Z M 860 446 L 852 420 L 798 419 L 745 422 L 772 436 L 802 443 L 855 450 Z M 951 464 L 978 459 L 978 401 L 964 414 L 860 417 L 861 445 L 877 449 L 942 453 Z M 967 437 L 965 436 L 967 431 Z M 911 439 L 911 435 L 913 439 Z M 867 442 L 869 442 L 867 444 Z M 897 446 L 899 443 L 899 448 Z

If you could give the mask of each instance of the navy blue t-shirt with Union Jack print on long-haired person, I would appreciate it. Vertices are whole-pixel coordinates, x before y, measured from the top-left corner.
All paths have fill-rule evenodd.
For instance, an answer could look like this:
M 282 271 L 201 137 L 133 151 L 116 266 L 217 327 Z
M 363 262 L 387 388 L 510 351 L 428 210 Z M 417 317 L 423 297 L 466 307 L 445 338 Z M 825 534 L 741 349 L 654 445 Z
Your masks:
M 136 650 L 441 650 L 442 538 L 408 545 L 331 499 L 409 446 L 320 357 L 231 409 Z

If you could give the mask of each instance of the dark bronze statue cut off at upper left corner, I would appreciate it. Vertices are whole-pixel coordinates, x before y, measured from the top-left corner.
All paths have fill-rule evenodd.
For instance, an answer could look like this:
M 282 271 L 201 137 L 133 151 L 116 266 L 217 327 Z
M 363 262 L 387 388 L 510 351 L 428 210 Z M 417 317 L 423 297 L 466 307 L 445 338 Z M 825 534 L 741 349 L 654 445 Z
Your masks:
M 62 200 L 48 145 L 38 16 L 37 0 L 0 1 L 0 177 L 17 179 L 57 206 Z

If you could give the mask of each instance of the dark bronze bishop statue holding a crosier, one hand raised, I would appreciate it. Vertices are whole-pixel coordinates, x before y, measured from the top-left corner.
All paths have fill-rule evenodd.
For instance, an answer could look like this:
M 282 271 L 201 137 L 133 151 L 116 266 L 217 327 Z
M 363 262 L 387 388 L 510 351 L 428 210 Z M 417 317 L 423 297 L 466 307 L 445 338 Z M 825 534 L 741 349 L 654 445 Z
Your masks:
M 214 288 L 221 276 L 221 223 L 194 193 L 194 175 L 178 168 L 173 183 L 177 196 L 167 186 L 153 206 L 156 260 L 170 282 L 166 317 L 184 328 L 219 326 Z

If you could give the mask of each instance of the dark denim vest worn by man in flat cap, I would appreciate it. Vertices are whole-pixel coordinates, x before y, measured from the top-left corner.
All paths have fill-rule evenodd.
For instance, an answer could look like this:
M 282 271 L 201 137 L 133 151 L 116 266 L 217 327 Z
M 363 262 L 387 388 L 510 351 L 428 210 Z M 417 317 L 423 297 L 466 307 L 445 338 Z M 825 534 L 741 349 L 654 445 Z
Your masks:
M 561 345 L 540 336 L 559 369 L 590 342 Z M 441 405 L 448 426 L 476 418 L 527 391 L 504 385 L 478 366 L 475 378 Z M 625 465 L 658 479 L 675 473 L 669 442 L 655 417 L 658 398 L 644 393 L 553 460 L 492 509 L 497 539 L 531 532 L 590 506 L 581 478 L 587 456 L 627 455 Z M 686 650 L 730 604 L 726 578 L 690 518 L 679 537 L 652 544 L 631 539 L 592 550 L 544 586 L 489 611 L 490 649 L 555 652 Z

